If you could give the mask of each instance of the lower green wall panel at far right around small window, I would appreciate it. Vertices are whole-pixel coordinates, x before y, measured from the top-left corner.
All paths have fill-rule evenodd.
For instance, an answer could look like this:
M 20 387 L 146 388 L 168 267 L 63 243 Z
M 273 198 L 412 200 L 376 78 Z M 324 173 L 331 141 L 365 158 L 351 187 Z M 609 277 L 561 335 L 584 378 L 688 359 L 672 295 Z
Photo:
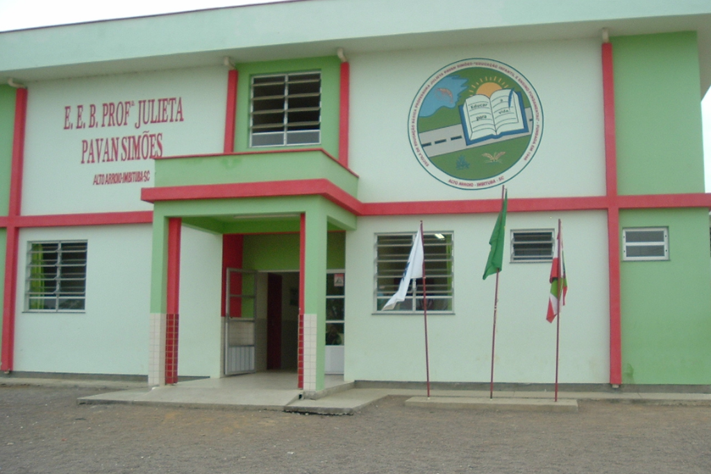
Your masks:
M 707 209 L 621 211 L 620 224 L 668 226 L 670 258 L 621 262 L 623 382 L 710 384 Z

